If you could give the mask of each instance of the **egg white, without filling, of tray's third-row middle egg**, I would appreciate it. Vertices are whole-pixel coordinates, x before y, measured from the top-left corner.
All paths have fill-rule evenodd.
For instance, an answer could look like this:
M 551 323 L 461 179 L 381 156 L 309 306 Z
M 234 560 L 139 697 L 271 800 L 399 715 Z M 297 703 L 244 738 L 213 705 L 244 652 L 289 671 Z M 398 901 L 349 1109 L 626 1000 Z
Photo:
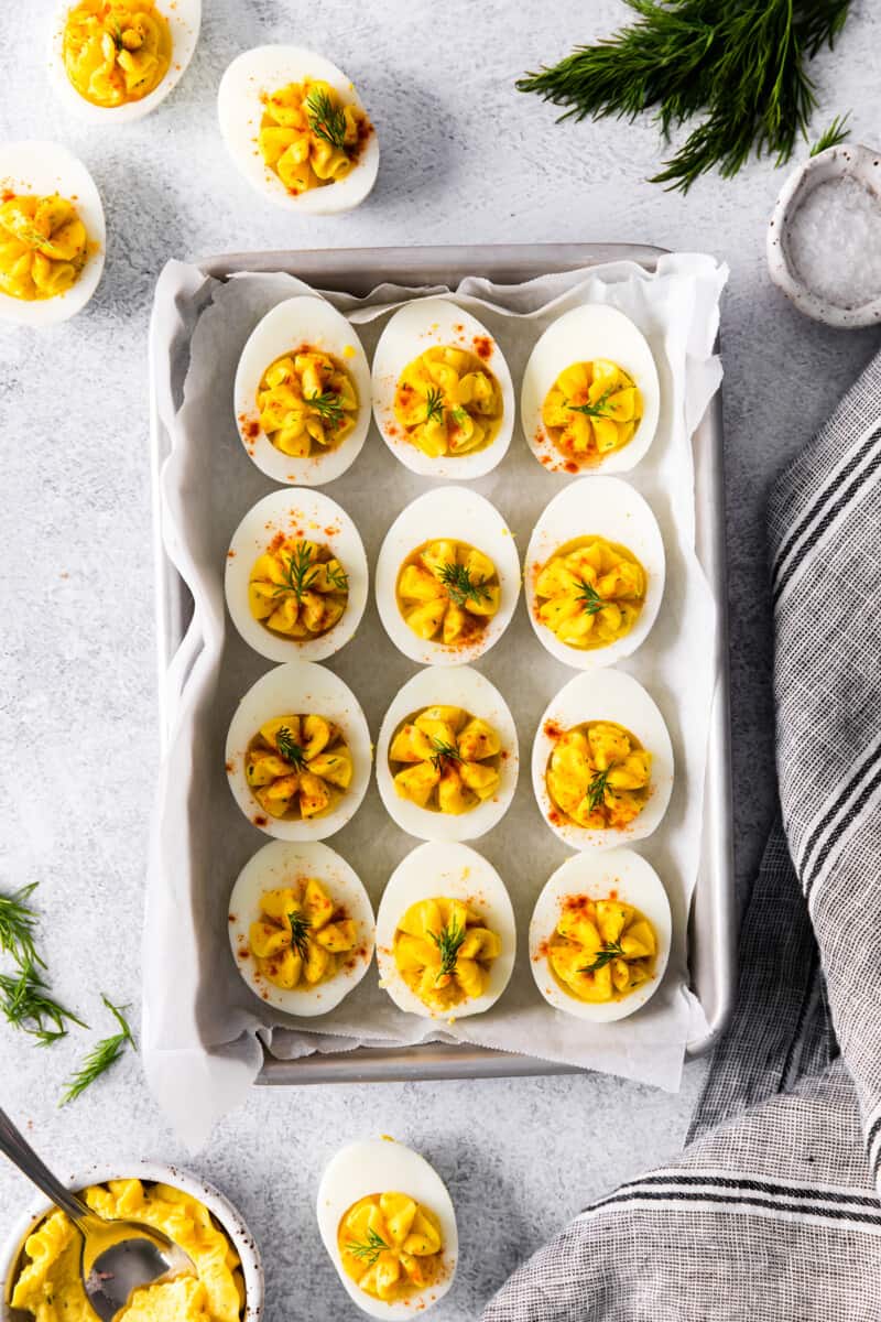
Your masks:
M 420 808 L 402 798 L 395 789 L 395 781 L 388 767 L 388 747 L 398 726 L 413 713 L 424 707 L 444 706 L 464 707 L 473 717 L 486 720 L 502 740 L 502 760 L 499 763 L 499 787 L 491 798 L 478 804 L 469 813 L 440 813 Z M 402 769 L 402 768 L 399 768 Z M 491 830 L 511 805 L 519 756 L 516 727 L 511 709 L 495 685 L 485 680 L 470 666 L 441 669 L 431 666 L 408 680 L 390 706 L 379 730 L 376 743 L 376 783 L 388 814 L 402 830 L 419 839 L 464 841 L 478 839 Z

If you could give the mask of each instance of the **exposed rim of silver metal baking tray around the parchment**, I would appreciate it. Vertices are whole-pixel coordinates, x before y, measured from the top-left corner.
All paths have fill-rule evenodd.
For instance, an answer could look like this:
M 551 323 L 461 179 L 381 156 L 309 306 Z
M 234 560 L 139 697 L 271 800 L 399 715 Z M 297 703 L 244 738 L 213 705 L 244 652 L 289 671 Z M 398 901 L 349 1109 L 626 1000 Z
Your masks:
M 461 247 L 324 249 L 313 251 L 238 253 L 199 262 L 218 280 L 244 271 L 287 271 L 318 290 L 355 296 L 378 283 L 454 287 L 466 275 L 498 284 L 518 284 L 552 271 L 638 262 L 652 270 L 663 249 L 635 243 L 474 245 Z M 174 695 L 166 674 L 192 615 L 186 584 L 162 543 L 159 475 L 170 449 L 160 423 L 156 358 L 151 344 L 151 467 L 153 553 L 156 568 L 156 633 L 162 746 L 174 718 Z M 719 608 L 720 673 L 711 715 L 704 830 L 697 884 L 688 920 L 691 989 L 700 1001 L 708 1030 L 688 1043 L 687 1055 L 707 1052 L 725 1027 L 734 995 L 736 915 L 732 839 L 730 714 L 728 677 L 728 600 L 725 571 L 725 480 L 721 397 L 717 391 L 695 432 L 695 505 L 697 557 Z M 354 1051 L 280 1060 L 265 1052 L 258 1079 L 263 1084 L 380 1083 L 400 1080 L 511 1077 L 584 1072 L 575 1066 L 536 1060 L 466 1043 L 420 1043 L 409 1047 L 359 1047 Z

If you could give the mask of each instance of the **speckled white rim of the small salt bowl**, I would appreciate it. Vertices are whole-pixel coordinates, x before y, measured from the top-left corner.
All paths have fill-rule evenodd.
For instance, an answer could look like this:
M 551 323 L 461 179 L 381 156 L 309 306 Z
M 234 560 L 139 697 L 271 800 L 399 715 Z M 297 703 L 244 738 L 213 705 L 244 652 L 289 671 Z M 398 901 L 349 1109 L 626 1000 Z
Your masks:
M 827 303 L 795 274 L 795 266 L 787 251 L 789 226 L 806 197 L 818 185 L 831 178 L 843 178 L 845 175 L 859 180 L 881 201 L 881 151 L 872 151 L 859 143 L 855 145 L 844 143 L 810 156 L 804 164 L 793 171 L 777 198 L 766 237 L 767 268 L 774 284 L 799 312 L 829 327 L 857 329 L 881 321 L 881 296 L 856 308 Z

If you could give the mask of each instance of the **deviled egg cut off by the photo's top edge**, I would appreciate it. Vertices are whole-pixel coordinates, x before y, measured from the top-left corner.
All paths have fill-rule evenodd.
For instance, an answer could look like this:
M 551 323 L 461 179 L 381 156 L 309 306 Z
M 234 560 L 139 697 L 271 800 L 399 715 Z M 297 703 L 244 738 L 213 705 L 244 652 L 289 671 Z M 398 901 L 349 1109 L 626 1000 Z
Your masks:
M 193 58 L 202 0 L 61 0 L 52 73 L 67 110 L 95 123 L 141 119 Z

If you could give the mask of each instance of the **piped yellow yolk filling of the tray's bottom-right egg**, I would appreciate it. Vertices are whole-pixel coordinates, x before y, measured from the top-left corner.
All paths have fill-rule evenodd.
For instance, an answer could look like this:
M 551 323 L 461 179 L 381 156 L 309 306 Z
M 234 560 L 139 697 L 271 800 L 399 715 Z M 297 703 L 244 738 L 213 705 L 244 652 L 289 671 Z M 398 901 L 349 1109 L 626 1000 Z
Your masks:
M 622 1001 L 654 972 L 655 929 L 638 908 L 609 896 L 571 895 L 548 943 L 551 970 L 580 1001 Z

